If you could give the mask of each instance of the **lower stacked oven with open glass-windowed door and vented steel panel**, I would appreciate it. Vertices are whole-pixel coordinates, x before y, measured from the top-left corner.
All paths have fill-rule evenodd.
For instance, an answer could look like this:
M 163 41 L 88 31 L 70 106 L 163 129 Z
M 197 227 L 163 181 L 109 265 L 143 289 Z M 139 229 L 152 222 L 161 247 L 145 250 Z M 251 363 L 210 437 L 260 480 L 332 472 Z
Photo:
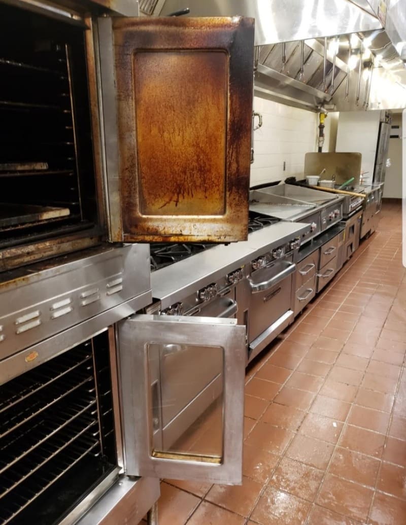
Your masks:
M 160 477 L 241 482 L 245 327 L 134 314 L 152 302 L 148 245 L 90 248 L 5 272 L 0 290 L 2 525 L 32 516 L 95 525 L 117 512 L 141 520 Z M 177 363 L 173 395 L 194 381 L 179 358 L 202 352 L 218 369 L 216 395 L 182 436 L 158 443 L 166 407 L 157 393 L 168 385 L 154 365 Z

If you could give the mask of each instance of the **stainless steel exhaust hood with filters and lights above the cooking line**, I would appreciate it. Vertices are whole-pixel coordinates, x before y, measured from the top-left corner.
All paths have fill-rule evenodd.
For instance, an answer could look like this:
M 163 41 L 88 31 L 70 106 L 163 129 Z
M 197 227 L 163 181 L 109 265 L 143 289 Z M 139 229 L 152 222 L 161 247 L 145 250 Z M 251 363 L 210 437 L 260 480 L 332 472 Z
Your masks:
M 255 95 L 313 111 L 406 107 L 406 0 L 139 0 L 255 18 Z

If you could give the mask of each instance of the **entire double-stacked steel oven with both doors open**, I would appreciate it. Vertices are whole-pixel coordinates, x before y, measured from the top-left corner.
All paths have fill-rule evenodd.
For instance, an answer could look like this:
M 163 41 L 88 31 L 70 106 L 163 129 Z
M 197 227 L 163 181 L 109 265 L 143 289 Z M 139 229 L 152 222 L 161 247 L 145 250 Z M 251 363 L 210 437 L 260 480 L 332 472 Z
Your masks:
M 103 239 L 132 242 L 162 238 L 224 242 L 246 237 L 247 220 L 241 219 L 243 195 L 247 202 L 251 149 L 253 21 L 234 17 L 207 19 L 206 23 L 196 19 L 152 22 L 117 16 L 112 22 L 108 16 L 98 18 L 109 14 L 109 7 L 123 14 L 120 6 L 131 7 L 128 2 L 107 0 L 0 3 L 0 68 L 7 73 L 7 82 L 0 88 L 5 123 L 0 184 L 8 201 L 1 206 L 0 223 L 0 269 L 7 270 L 1 274 L 3 317 L 7 321 L 0 325 L 5 400 L 1 439 L 3 450 L 11 452 L 14 447 L 14 455 L 9 454 L 1 467 L 2 523 L 26 522 L 33 513 L 37 522 L 44 524 L 95 525 L 111 519 L 139 519 L 158 497 L 159 476 L 241 481 L 245 328 L 231 319 L 197 317 L 141 316 L 119 323 L 150 301 L 149 289 L 140 292 L 137 286 L 132 287 L 143 282 L 140 268 L 145 257 L 133 261 L 132 271 L 127 273 L 127 256 L 123 254 L 131 247 L 101 243 Z M 134 31 L 136 26 L 139 30 Z M 160 28 L 170 48 L 164 49 L 162 40 L 158 50 L 153 47 Z M 111 37 L 108 40 L 106 33 Z M 137 40 L 141 34 L 143 39 Z M 134 68 L 134 91 L 127 91 L 127 108 L 138 102 L 137 112 L 132 113 L 120 113 L 122 107 L 116 108 L 114 93 L 109 91 L 115 89 L 110 81 L 114 75 L 117 85 L 126 89 L 123 82 L 128 80 L 128 70 L 117 65 L 121 59 L 117 41 L 123 38 L 127 49 L 132 46 L 133 65 L 142 62 L 142 69 Z M 142 47 L 140 53 L 137 46 Z M 166 188 L 171 197 L 168 203 L 161 201 L 154 208 L 149 177 L 155 151 L 145 144 L 160 122 L 151 118 L 145 123 L 144 97 L 139 93 L 151 89 L 148 100 L 157 101 L 157 76 L 151 79 L 143 73 L 153 70 L 157 61 L 164 62 L 161 52 L 176 64 L 159 77 L 168 83 L 165 93 L 170 114 L 162 119 L 162 125 L 176 117 L 185 130 L 194 130 L 197 118 L 199 139 L 210 137 L 211 142 L 202 151 L 200 140 L 192 133 L 185 156 L 215 151 L 216 159 L 212 163 L 201 159 L 205 166 L 199 173 L 202 187 L 194 191 L 196 170 L 185 171 L 185 158 L 183 162 L 176 156 L 168 158 L 169 150 L 178 152 L 179 143 L 173 141 L 173 134 L 161 133 L 157 148 L 163 146 L 161 152 L 166 154 L 161 169 L 170 169 L 171 176 L 160 177 L 159 182 L 173 184 Z M 201 78 L 202 66 L 207 70 L 212 61 L 215 75 L 213 83 L 209 75 L 205 77 L 210 86 L 205 86 L 204 93 L 185 83 L 176 95 L 188 104 L 171 97 L 170 88 L 175 89 L 171 71 L 179 80 L 182 65 L 190 76 L 197 68 Z M 207 100 L 213 86 L 216 109 L 224 119 L 211 113 L 210 104 L 197 116 L 190 111 L 199 97 Z M 221 88 L 220 95 L 217 88 Z M 120 91 L 120 104 L 124 91 Z M 111 118 L 116 111 L 118 121 Z M 210 117 L 215 117 L 216 124 Z M 131 124 L 131 119 L 136 124 Z M 202 123 L 207 123 L 206 127 Z M 137 131 L 137 143 L 126 126 Z M 234 129 L 239 130 L 238 136 Z M 221 166 L 218 155 L 224 161 Z M 211 191 L 218 190 L 222 203 L 217 199 L 215 209 L 208 207 Z M 133 208 L 136 196 L 140 213 Z M 192 202 L 197 210 L 193 215 L 186 202 Z M 165 206 L 170 207 L 169 215 L 163 211 Z M 248 217 L 247 204 L 245 212 Z M 165 222 L 171 227 L 163 229 Z M 142 253 L 140 245 L 133 248 Z M 120 259 L 123 268 L 111 266 L 110 256 Z M 99 265 L 93 264 L 93 257 L 100 257 Z M 41 259 L 49 260 L 34 262 Z M 73 265 L 75 271 L 64 274 L 65 265 Z M 32 287 L 39 297 L 30 295 Z M 8 309 L 9 292 L 19 301 L 13 312 Z M 144 340 L 134 346 L 136 334 Z M 184 448 L 153 450 L 149 441 L 153 393 L 146 386 L 151 379 L 148 356 L 157 350 L 170 354 L 179 348 L 193 352 L 196 345 L 201 348 L 203 340 L 224 368 L 221 447 L 215 454 L 201 449 L 188 454 Z M 143 367 L 140 361 L 134 362 L 136 359 L 141 359 Z M 129 377 L 130 369 L 137 375 Z M 141 385 L 146 389 L 143 397 L 133 390 Z M 85 399 L 88 405 L 83 405 Z M 147 412 L 142 415 L 144 410 Z M 51 420 L 57 416 L 60 425 L 52 426 Z M 149 427 L 145 426 L 147 419 Z M 32 423 L 40 430 L 32 434 L 34 442 L 20 439 L 17 443 L 13 436 L 30 429 Z M 141 428 L 141 434 L 135 436 Z M 148 457 L 142 456 L 145 453 Z M 194 462 L 193 457 L 198 460 Z M 98 464 L 96 477 L 83 484 L 70 483 L 75 469 L 83 474 L 82 460 L 87 459 Z M 138 475 L 142 477 L 132 477 Z M 61 483 L 64 493 L 58 490 Z M 72 490 L 66 491 L 66 487 Z

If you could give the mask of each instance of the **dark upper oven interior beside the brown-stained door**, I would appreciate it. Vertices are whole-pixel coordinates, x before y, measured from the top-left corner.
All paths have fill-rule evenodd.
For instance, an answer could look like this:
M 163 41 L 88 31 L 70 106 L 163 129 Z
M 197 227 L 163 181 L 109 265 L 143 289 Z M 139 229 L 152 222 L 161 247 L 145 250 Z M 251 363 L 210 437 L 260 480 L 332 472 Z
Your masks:
M 0 5 L 0 249 L 97 221 L 82 27 Z

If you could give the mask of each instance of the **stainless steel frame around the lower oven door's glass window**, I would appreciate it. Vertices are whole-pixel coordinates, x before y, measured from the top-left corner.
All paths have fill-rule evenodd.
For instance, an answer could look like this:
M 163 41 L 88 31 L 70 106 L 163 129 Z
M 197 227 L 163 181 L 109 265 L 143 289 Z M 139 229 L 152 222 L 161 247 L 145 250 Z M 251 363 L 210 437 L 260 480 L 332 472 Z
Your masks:
M 235 319 L 139 314 L 118 327 L 126 470 L 130 476 L 193 479 L 238 485 L 242 482 L 245 327 Z M 220 463 L 203 456 L 151 455 L 152 411 L 148 343 L 196 344 L 224 349 L 223 455 Z M 160 456 L 162 456 L 160 454 Z

